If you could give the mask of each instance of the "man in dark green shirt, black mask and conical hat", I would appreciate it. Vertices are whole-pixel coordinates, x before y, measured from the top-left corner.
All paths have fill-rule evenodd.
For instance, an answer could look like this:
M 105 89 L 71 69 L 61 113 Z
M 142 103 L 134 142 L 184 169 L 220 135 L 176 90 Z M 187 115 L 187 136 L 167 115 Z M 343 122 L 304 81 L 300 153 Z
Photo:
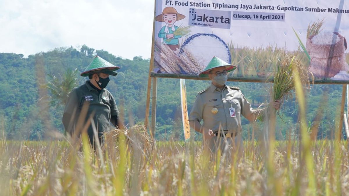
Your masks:
M 88 76 L 89 80 L 69 94 L 62 118 L 63 125 L 70 135 L 79 136 L 81 131 L 87 128 L 93 145 L 94 129 L 98 133 L 99 142 L 102 142 L 103 132 L 109 131 L 112 126 L 123 128 L 116 101 L 105 89 L 110 80 L 109 75 L 116 76 L 117 73 L 114 71 L 119 68 L 95 56 L 80 74 Z

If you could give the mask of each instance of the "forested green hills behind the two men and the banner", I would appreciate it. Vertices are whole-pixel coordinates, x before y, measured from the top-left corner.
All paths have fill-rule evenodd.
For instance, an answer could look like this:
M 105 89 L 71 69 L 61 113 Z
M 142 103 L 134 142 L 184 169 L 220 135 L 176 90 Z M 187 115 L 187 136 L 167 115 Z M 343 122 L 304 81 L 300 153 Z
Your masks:
M 94 50 L 83 45 L 79 50 L 73 47 L 56 48 L 49 52 L 29 55 L 0 53 L 0 138 L 9 140 L 41 140 L 50 138 L 47 130 L 64 133 L 61 123 L 64 104 L 51 101 L 59 96 L 53 94 L 48 83 L 63 81 L 69 71 L 74 73 L 77 85 L 88 78 L 80 73 L 91 62 L 94 55 L 120 66 L 117 76 L 111 76 L 107 89 L 117 100 L 125 124 L 142 124 L 146 109 L 149 59 L 135 56 L 123 59 L 104 50 Z M 73 72 L 73 70 L 75 70 Z M 209 85 L 209 81 L 186 80 L 187 103 L 190 112 L 196 92 Z M 156 139 L 183 140 L 181 122 L 179 80 L 158 78 Z M 268 100 L 268 83 L 228 82 L 239 86 L 245 97 L 257 108 Z M 307 121 L 309 131 L 318 130 L 318 138 L 334 137 L 334 127 L 340 112 L 342 85 L 313 85 L 307 90 Z M 298 105 L 295 99 L 283 102 L 277 117 L 276 138 L 287 139 L 298 136 Z M 246 119 L 242 120 L 244 137 L 252 130 L 260 133 L 261 126 L 253 129 Z M 261 125 L 261 122 L 257 122 Z M 344 132 L 343 132 L 344 133 Z M 199 139 L 200 134 L 194 133 Z M 344 134 L 345 135 L 345 134 Z

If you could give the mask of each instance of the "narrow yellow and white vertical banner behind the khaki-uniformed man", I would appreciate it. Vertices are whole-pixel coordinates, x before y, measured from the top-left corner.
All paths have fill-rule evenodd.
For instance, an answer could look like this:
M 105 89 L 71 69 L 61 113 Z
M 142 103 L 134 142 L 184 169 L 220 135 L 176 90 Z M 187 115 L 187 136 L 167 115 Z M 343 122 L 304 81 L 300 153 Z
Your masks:
M 183 121 L 183 130 L 184 138 L 188 140 L 190 138 L 190 126 L 189 126 L 189 117 L 188 117 L 188 108 L 187 108 L 187 91 L 185 89 L 185 80 L 180 79 L 180 103 L 182 105 L 182 121 Z

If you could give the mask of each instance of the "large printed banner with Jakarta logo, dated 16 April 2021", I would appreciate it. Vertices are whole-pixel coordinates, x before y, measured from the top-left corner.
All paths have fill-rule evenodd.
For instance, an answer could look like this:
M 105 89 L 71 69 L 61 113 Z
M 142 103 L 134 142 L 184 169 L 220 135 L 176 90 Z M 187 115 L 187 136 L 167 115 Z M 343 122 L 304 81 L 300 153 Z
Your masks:
M 218 58 L 229 77 L 268 78 L 296 56 L 317 80 L 349 82 L 344 0 L 156 0 L 154 73 L 199 75 Z

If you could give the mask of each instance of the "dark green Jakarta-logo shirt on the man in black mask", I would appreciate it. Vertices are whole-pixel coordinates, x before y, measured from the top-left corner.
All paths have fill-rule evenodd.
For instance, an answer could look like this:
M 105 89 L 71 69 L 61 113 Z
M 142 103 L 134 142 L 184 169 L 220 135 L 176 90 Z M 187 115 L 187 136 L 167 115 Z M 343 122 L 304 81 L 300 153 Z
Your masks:
M 109 131 L 111 129 L 111 116 L 119 115 L 115 99 L 106 89 L 102 89 L 98 93 L 96 89 L 92 88 L 88 81 L 79 88 L 74 89 L 69 95 L 64 113 L 73 115 L 73 125 L 69 126 L 70 130 L 67 131 L 70 133 L 74 131 L 84 103 L 87 103 L 89 106 L 84 124 L 88 121 L 90 115 L 94 114 L 92 118 L 99 135 L 101 135 L 101 132 Z M 93 134 L 91 125 L 88 128 L 88 133 Z

